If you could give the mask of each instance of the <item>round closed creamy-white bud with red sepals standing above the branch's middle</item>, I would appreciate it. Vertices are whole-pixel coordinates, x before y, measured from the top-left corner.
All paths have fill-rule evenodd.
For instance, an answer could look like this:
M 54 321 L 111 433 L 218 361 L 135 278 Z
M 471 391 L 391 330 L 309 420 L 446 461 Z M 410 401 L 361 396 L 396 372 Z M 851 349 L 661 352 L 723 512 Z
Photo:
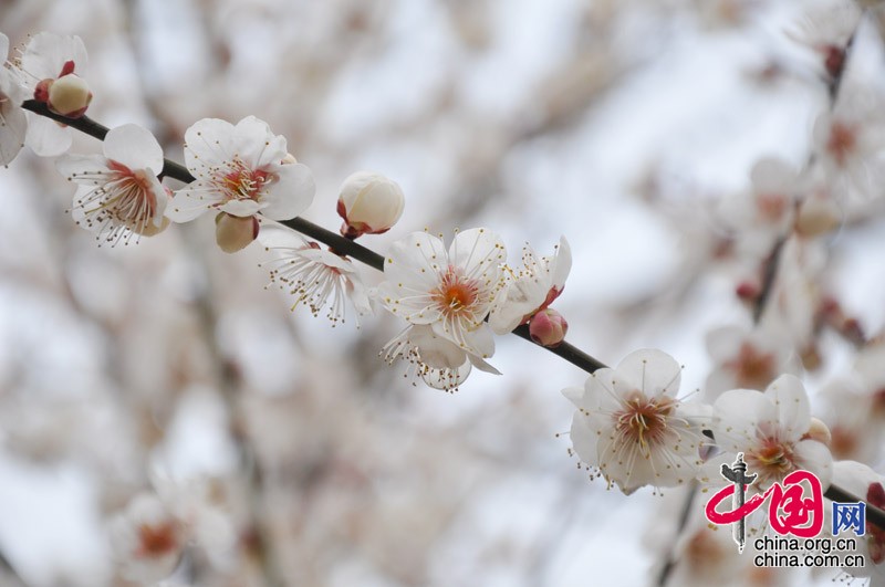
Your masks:
M 403 190 L 391 179 L 371 171 L 357 171 L 344 180 L 339 196 L 341 233 L 348 239 L 381 234 L 403 216 Z

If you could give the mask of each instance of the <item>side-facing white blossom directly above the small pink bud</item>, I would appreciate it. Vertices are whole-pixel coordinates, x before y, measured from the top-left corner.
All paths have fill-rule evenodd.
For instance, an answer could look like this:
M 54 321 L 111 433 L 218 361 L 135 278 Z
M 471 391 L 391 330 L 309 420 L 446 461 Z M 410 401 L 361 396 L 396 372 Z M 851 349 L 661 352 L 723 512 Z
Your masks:
M 510 280 L 496 301 L 489 325 L 496 334 L 507 334 L 545 310 L 565 287 L 572 269 L 572 251 L 565 237 L 550 256 L 539 258 L 528 244 L 522 250 L 522 269 L 509 271 Z

